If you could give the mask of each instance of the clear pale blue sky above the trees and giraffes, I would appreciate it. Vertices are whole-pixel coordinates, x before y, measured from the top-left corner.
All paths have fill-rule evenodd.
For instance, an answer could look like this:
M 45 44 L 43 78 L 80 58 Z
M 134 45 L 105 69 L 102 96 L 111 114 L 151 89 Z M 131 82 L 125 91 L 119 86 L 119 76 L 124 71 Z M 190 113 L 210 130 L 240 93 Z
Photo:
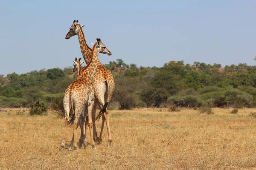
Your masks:
M 255 0 L 1 0 L 0 74 L 71 66 L 82 57 L 78 37 L 65 40 L 73 20 L 111 51 L 103 64 L 256 64 Z

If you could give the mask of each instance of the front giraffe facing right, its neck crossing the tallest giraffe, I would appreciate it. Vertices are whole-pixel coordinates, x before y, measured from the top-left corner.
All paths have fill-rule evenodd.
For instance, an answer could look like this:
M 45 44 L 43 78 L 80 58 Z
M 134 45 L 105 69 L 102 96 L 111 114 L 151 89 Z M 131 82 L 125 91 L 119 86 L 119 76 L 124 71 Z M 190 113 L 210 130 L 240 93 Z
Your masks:
M 106 53 L 111 55 L 111 52 L 106 48 L 102 41 L 99 38 L 97 38 L 97 42 L 93 46 L 92 59 L 90 63 L 81 71 L 79 77 L 77 77 L 77 79 L 69 85 L 64 94 L 63 105 L 65 115 L 67 115 L 67 113 L 70 111 L 70 105 L 73 111 L 73 106 L 75 107 L 75 112 L 73 112 L 74 114 L 72 115 L 72 118 L 70 119 L 70 121 L 68 121 L 69 123 L 72 122 L 73 124 L 73 138 L 70 142 L 71 149 L 78 148 L 76 142 L 76 129 L 78 127 L 80 116 L 84 112 L 84 109 L 87 109 L 88 113 L 90 143 L 93 149 L 96 149 L 95 142 L 93 140 L 91 116 L 94 104 L 94 91 L 92 80 L 96 73 L 96 68 L 98 65 L 98 56 L 100 51 L 106 51 Z

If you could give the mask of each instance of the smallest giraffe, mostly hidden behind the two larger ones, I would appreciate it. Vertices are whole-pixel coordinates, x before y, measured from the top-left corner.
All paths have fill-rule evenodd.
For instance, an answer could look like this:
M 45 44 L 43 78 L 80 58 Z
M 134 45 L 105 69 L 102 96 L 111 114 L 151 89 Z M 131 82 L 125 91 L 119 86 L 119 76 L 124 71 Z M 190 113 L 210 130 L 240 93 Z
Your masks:
M 81 73 L 81 65 L 84 63 L 83 62 L 80 62 L 81 58 L 79 58 L 78 60 L 75 59 L 75 61 L 73 60 L 74 64 L 74 68 L 73 68 L 73 72 L 76 72 L 77 71 L 77 78 L 79 77 L 80 73 Z M 69 86 L 66 91 L 65 91 L 65 94 L 69 94 L 70 90 L 71 90 L 71 87 L 72 86 Z M 67 92 L 67 93 L 66 93 Z M 70 107 L 70 106 L 69 106 Z M 64 106 L 64 108 L 68 108 L 67 106 Z M 73 103 L 71 103 L 71 108 L 72 108 L 72 111 L 73 111 L 73 114 L 74 114 L 74 109 L 73 109 Z M 62 139 L 62 142 L 61 142 L 61 147 L 65 147 L 65 139 L 66 139 L 66 134 L 67 134 L 67 125 L 68 125 L 68 120 L 69 120 L 69 112 L 70 110 L 66 111 L 65 112 L 65 131 L 64 131 L 64 138 Z M 79 125 L 83 122 L 83 115 L 84 115 L 84 111 L 82 112 L 82 116 L 80 118 L 80 121 L 79 121 Z M 81 127 L 81 125 L 80 125 Z M 85 139 L 85 136 L 82 135 L 82 131 L 81 130 L 81 138 L 84 138 Z M 82 139 L 80 139 L 82 140 Z

